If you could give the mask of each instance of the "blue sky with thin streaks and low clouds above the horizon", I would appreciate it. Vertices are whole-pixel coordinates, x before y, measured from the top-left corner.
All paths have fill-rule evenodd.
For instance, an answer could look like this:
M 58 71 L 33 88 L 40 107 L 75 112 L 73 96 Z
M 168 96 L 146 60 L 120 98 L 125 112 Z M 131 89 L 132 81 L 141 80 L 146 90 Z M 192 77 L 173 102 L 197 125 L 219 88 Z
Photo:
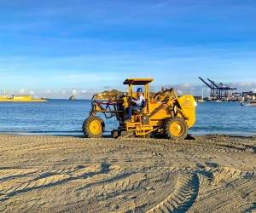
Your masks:
M 0 90 L 49 98 L 152 89 L 256 92 L 256 1 L 0 1 Z M 1 95 L 1 92 L 0 92 Z

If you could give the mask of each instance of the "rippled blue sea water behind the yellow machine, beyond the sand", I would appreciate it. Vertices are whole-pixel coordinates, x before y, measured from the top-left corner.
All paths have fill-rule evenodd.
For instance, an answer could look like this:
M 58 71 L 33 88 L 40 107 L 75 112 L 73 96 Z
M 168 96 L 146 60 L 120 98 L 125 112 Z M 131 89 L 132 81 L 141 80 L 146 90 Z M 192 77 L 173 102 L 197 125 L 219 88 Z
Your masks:
M 48 100 L 47 102 L 0 102 L 0 134 L 80 135 L 89 116 L 88 100 Z M 105 120 L 104 135 L 119 126 L 115 118 Z M 202 102 L 196 107 L 192 135 L 256 135 L 256 107 L 239 102 Z

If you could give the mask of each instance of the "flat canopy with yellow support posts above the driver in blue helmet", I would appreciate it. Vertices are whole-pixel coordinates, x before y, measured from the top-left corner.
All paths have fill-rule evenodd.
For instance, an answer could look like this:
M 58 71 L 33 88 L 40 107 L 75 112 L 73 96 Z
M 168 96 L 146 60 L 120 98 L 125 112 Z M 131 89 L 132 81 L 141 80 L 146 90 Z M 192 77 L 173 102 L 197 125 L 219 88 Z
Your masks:
M 123 84 L 129 85 L 128 95 L 132 96 L 132 86 L 133 85 L 144 85 L 143 94 L 144 97 L 149 99 L 149 83 L 151 83 L 154 78 L 127 78 Z

